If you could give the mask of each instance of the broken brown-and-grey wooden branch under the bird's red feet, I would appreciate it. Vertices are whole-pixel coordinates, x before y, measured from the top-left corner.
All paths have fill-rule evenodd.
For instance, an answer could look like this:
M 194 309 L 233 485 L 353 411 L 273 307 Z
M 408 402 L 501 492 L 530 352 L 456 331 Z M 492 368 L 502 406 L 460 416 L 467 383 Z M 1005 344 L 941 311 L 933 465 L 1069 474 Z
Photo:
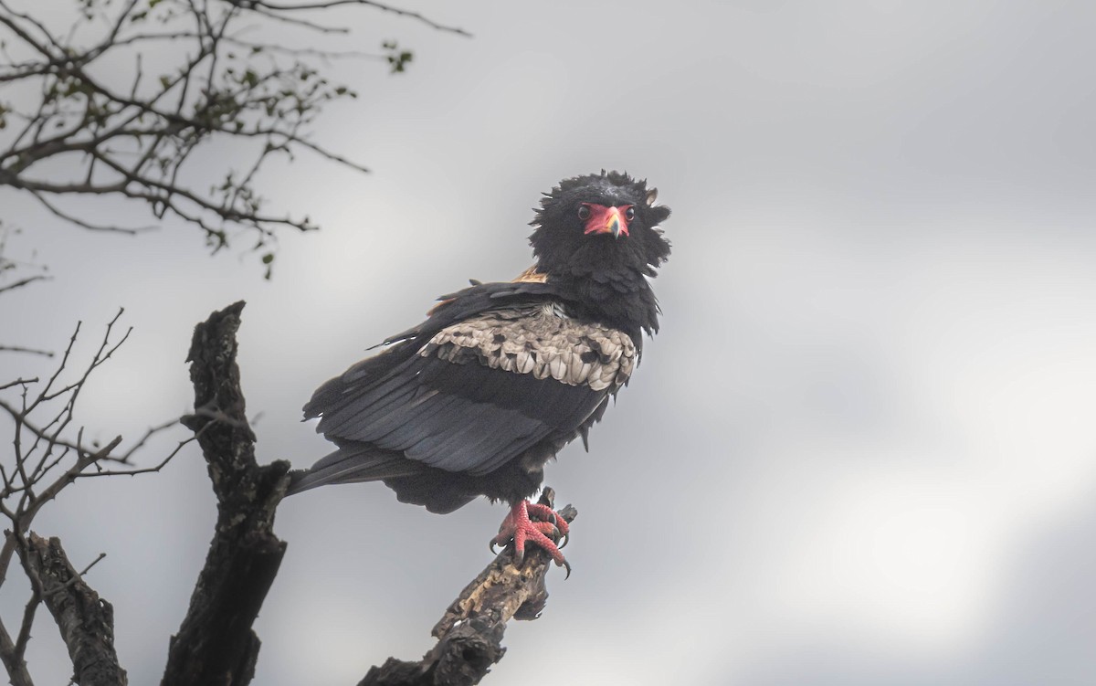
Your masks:
M 551 506 L 555 493 L 546 488 L 540 502 Z M 568 523 L 578 511 L 559 511 Z M 545 550 L 528 546 L 521 568 L 512 563 L 510 548 L 471 581 L 431 632 L 437 644 L 419 662 L 389 658 L 373 667 L 358 686 L 470 686 L 478 684 L 506 649 L 502 636 L 506 622 L 536 619 L 548 601 L 545 574 L 552 564 Z

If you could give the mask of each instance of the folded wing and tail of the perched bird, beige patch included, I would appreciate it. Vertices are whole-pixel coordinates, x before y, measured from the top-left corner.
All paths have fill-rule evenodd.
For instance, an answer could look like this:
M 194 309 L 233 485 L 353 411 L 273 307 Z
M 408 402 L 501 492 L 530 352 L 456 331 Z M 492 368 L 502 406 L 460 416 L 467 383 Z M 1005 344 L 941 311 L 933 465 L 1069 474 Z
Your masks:
M 393 347 L 317 390 L 306 416 L 319 416 L 317 431 L 340 449 L 290 492 L 423 467 L 478 477 L 541 442 L 584 434 L 627 382 L 638 358 L 632 339 L 567 317 L 550 297 L 484 298 L 490 286 L 456 294 L 390 339 Z

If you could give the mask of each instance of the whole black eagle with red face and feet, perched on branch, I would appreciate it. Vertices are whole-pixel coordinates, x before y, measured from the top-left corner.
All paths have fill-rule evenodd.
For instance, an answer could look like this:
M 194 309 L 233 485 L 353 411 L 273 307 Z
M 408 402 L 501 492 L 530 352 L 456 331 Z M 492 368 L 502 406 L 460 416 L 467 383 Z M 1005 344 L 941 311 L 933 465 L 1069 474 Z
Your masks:
M 289 493 L 384 481 L 437 513 L 504 500 L 511 513 L 493 542 L 513 540 L 520 562 L 528 540 L 566 564 L 545 535 L 566 535 L 566 523 L 527 499 L 548 459 L 586 442 L 639 363 L 643 333 L 659 329 L 649 278 L 670 255 L 659 228 L 670 208 L 657 194 L 604 171 L 545 194 L 532 267 L 443 296 L 424 322 L 316 391 L 305 418 L 319 418 L 339 449 L 295 472 Z

